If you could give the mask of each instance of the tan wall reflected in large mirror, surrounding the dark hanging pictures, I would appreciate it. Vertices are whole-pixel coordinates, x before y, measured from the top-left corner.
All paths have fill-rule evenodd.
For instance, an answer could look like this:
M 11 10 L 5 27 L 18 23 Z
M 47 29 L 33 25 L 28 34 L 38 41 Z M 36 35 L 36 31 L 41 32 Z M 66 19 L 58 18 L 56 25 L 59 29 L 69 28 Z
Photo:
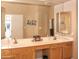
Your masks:
M 44 20 L 44 19 L 49 20 L 49 19 L 53 18 L 51 16 L 51 14 L 53 15 L 53 13 L 51 13 L 50 6 L 2 2 L 2 7 L 5 8 L 5 11 L 6 11 L 5 14 L 23 15 L 24 22 L 25 22 L 25 20 L 28 20 L 28 19 L 29 20 L 37 20 L 37 22 L 39 22 L 38 20 L 40 20 L 40 19 L 41 20 Z M 39 11 L 39 10 L 41 10 L 41 11 Z M 43 11 L 44 11 L 44 13 L 41 14 Z M 46 12 L 47 12 L 47 14 L 46 14 Z M 48 27 L 47 27 L 46 23 L 47 22 L 45 21 L 45 23 L 44 23 L 45 25 L 42 24 L 42 30 L 43 30 L 42 32 L 40 30 L 38 30 L 38 26 L 39 26 L 38 24 L 41 24 L 41 22 L 37 23 L 36 26 L 32 26 L 32 27 L 25 26 L 26 24 L 24 23 L 24 27 L 23 27 L 24 38 L 32 37 L 33 35 L 38 34 L 38 33 L 42 36 L 47 36 L 46 31 L 47 31 Z

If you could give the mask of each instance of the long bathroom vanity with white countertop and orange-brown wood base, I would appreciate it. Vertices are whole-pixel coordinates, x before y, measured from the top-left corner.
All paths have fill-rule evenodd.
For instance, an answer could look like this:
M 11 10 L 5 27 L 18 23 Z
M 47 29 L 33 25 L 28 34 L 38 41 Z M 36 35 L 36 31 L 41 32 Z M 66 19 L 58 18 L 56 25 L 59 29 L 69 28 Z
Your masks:
M 26 40 L 26 39 L 24 39 Z M 23 40 L 21 40 L 23 41 Z M 48 59 L 71 59 L 73 41 L 70 39 L 48 40 L 39 42 L 28 42 L 13 44 L 11 47 L 2 47 L 2 59 L 37 59 L 36 51 L 41 50 L 42 54 L 47 53 Z M 18 40 L 18 42 L 20 42 Z M 31 44 L 30 44 L 31 43 Z M 27 45 L 28 44 L 28 45 Z M 20 45 L 20 46 L 19 46 Z M 45 51 L 44 51 L 45 50 Z

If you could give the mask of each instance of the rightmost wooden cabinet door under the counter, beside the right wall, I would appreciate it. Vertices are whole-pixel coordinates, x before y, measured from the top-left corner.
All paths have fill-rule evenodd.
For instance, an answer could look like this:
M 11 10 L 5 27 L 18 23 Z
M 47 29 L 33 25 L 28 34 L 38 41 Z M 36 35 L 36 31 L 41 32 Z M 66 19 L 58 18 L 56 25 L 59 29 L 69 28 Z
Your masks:
M 63 59 L 71 59 L 72 58 L 72 44 L 66 43 L 63 47 Z

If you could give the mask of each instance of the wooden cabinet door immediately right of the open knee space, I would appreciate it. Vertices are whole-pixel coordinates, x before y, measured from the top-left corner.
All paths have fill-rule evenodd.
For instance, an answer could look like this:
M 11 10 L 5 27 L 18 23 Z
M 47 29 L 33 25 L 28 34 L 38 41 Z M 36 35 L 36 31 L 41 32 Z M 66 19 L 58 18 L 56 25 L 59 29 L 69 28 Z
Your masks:
M 51 48 L 50 51 L 50 59 L 62 59 L 62 48 L 56 47 L 56 48 Z

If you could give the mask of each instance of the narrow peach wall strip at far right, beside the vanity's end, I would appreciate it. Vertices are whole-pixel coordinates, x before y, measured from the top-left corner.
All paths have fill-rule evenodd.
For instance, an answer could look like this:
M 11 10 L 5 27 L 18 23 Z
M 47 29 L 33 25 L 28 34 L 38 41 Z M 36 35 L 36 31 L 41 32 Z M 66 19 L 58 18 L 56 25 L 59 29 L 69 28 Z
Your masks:
M 74 33 L 73 59 L 78 59 L 78 9 L 77 0 L 72 0 L 72 31 Z

